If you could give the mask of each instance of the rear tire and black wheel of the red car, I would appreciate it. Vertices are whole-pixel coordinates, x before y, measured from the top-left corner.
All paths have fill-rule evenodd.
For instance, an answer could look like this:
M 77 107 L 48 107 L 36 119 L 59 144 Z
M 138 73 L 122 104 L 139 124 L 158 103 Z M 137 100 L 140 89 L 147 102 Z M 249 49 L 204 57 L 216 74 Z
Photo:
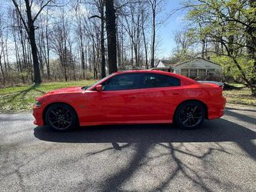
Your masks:
M 187 101 L 178 106 L 175 111 L 175 124 L 182 129 L 198 128 L 205 117 L 203 105 L 198 101 Z

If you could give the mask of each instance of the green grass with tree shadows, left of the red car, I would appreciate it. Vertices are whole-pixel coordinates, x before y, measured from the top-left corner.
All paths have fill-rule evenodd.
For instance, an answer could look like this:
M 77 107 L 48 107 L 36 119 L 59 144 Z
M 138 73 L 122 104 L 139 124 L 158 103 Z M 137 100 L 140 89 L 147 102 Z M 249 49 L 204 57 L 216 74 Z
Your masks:
M 0 111 L 29 111 L 32 110 L 35 98 L 48 91 L 71 86 L 86 86 L 93 84 L 94 82 L 95 81 L 52 82 L 40 84 L 38 86 L 0 88 Z

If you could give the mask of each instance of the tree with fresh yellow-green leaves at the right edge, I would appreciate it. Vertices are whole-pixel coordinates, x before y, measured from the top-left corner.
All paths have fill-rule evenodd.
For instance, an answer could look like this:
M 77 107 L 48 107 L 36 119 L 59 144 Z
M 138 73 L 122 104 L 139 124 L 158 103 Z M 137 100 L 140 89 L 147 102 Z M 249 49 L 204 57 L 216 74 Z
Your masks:
M 220 44 L 224 47 L 224 51 L 216 52 L 216 49 L 209 49 L 217 55 L 231 58 L 233 66 L 238 69 L 244 84 L 251 89 L 251 94 L 256 95 L 256 88 L 253 84 L 255 81 L 256 58 L 252 54 L 247 55 L 244 50 L 255 50 L 256 47 L 256 10 L 255 2 L 251 2 L 248 6 L 248 1 L 228 1 L 221 0 L 198 0 L 193 4 L 188 3 L 190 8 L 188 12 L 188 21 L 191 21 L 191 28 L 201 30 L 194 35 L 194 38 L 204 38 L 208 44 Z M 250 42 L 250 43 L 248 43 Z M 251 58 L 254 61 L 254 66 L 251 68 L 251 73 L 246 73 L 241 64 L 241 58 Z

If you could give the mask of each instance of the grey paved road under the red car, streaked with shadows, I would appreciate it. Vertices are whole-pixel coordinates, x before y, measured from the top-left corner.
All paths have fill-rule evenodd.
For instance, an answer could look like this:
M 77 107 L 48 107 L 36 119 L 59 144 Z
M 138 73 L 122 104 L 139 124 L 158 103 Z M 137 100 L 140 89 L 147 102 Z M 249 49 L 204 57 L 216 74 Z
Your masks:
M 133 125 L 55 133 L 0 114 L 0 191 L 255 191 L 256 109 L 201 129 Z

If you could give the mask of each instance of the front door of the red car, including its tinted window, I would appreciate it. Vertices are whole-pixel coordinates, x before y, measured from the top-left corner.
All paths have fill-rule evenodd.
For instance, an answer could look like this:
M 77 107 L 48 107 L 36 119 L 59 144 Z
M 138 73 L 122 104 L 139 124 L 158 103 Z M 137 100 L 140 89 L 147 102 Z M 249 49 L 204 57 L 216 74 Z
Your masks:
M 102 91 L 91 91 L 90 121 L 103 124 L 136 121 L 140 81 L 140 73 L 117 74 L 101 84 Z

